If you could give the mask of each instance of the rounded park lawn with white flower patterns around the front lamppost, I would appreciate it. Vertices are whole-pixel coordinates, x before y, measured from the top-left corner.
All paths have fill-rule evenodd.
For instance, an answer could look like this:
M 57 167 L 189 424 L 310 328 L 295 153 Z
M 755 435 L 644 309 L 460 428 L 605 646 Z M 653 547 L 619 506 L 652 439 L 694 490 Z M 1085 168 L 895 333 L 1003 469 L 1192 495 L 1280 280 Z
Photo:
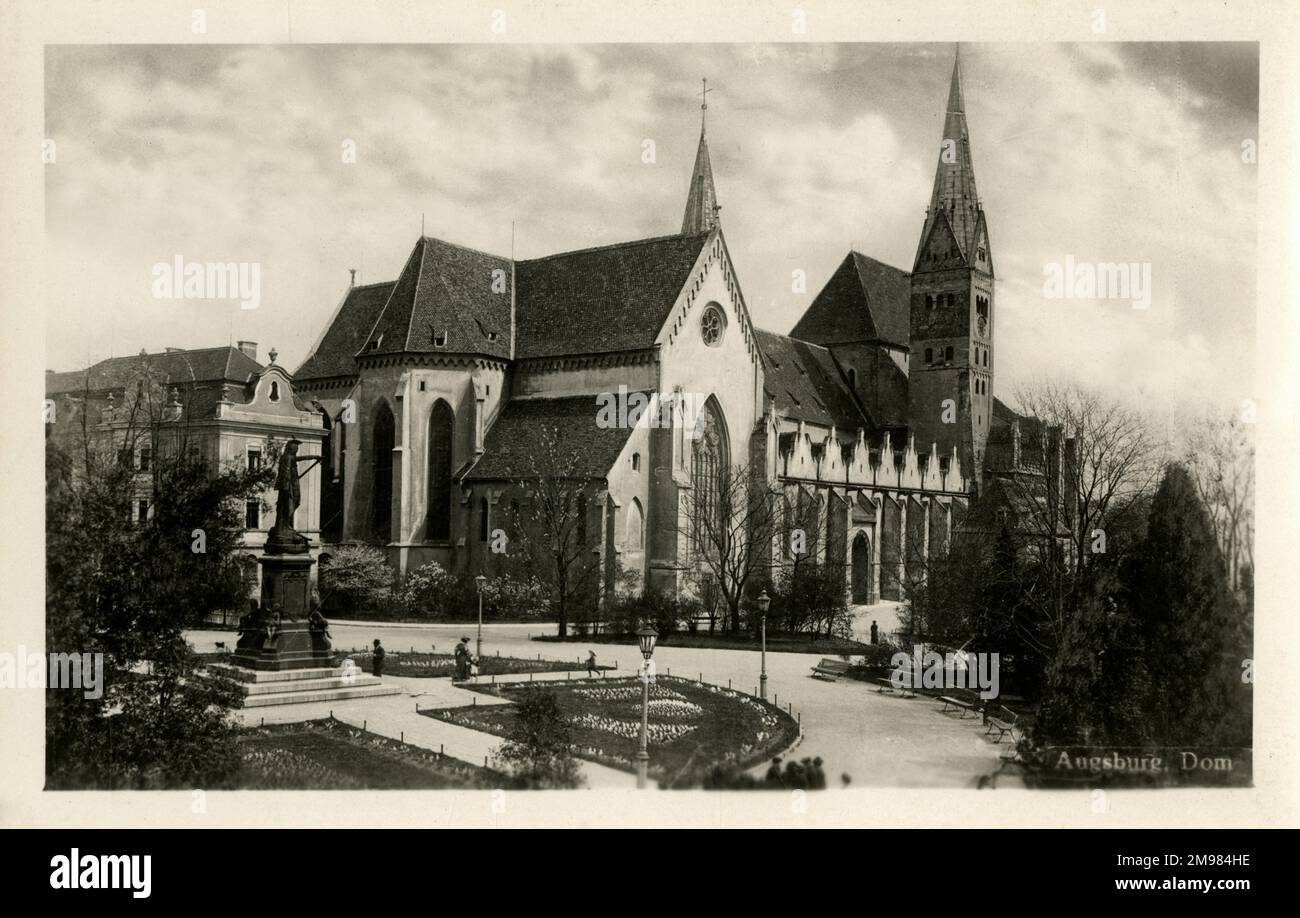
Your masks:
M 638 679 L 575 679 L 532 688 L 556 696 L 572 729 L 576 755 L 634 771 L 641 736 Z M 529 689 L 528 683 L 473 687 L 474 692 L 507 701 Z M 506 736 L 516 710 L 515 705 L 491 705 L 420 714 Z M 650 774 L 667 787 L 698 784 L 715 765 L 751 767 L 789 748 L 798 735 L 794 718 L 744 692 L 671 676 L 659 676 L 650 687 Z

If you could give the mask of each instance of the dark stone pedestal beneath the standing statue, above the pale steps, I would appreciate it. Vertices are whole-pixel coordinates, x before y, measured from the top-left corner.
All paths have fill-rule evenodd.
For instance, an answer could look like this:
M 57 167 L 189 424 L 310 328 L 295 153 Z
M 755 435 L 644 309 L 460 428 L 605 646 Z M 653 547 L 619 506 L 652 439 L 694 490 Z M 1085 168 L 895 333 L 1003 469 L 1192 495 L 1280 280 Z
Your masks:
M 231 663 L 250 670 L 306 670 L 333 666 L 324 628 L 313 627 L 308 554 L 268 554 L 261 564 L 261 610 L 254 622 L 240 622 Z M 250 627 L 251 625 L 251 627 Z

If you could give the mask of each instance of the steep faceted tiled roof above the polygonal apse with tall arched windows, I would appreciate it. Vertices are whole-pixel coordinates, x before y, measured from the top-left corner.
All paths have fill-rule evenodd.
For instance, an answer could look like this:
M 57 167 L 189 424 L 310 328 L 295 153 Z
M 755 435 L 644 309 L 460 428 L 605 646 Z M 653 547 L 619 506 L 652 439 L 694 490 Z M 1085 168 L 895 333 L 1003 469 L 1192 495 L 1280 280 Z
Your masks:
M 421 237 L 368 332 L 356 356 L 508 358 L 510 259 Z

